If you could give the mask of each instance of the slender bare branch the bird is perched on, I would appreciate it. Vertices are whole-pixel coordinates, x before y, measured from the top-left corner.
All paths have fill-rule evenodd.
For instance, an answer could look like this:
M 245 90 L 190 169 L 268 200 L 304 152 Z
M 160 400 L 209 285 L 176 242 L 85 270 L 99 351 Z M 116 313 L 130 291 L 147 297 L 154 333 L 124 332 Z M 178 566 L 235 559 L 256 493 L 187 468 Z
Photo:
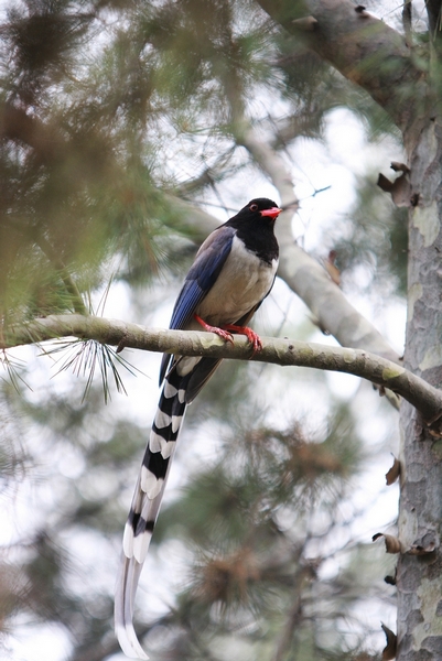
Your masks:
M 241 336 L 235 337 L 231 345 L 212 333 L 144 328 L 118 319 L 79 314 L 51 315 L 4 328 L 2 348 L 69 336 L 95 339 L 119 349 L 129 347 L 346 372 L 397 392 L 420 411 L 434 435 L 442 435 L 442 392 L 403 367 L 359 349 L 266 337 L 261 338 L 262 350 L 251 356 L 250 345 Z

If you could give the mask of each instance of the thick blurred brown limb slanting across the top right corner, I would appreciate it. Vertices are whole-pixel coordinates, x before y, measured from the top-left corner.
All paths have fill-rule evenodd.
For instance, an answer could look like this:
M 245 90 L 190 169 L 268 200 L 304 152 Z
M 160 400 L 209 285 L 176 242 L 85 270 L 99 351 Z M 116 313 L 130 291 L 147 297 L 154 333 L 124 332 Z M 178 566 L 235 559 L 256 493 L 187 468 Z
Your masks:
M 299 22 L 299 3 L 258 2 L 290 34 L 363 87 L 402 131 L 421 115 L 418 109 L 429 99 L 425 74 L 414 65 L 405 39 L 384 21 L 351 0 L 305 0 L 305 13 L 316 21 L 314 29 L 305 30 Z

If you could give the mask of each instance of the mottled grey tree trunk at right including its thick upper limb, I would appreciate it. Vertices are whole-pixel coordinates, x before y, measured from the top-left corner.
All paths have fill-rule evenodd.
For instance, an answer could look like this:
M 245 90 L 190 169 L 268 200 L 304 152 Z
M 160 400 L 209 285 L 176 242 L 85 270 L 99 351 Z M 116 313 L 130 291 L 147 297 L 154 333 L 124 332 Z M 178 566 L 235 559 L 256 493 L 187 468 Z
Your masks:
M 431 68 L 405 39 L 348 0 L 259 0 L 291 34 L 362 86 L 401 129 L 411 170 L 406 367 L 442 387 L 442 118 Z M 297 6 L 298 7 L 298 6 Z M 421 55 L 421 53 L 420 53 Z M 429 53 L 427 53 L 429 61 Z M 434 86 L 435 88 L 435 86 Z M 401 407 L 398 661 L 442 659 L 442 442 Z

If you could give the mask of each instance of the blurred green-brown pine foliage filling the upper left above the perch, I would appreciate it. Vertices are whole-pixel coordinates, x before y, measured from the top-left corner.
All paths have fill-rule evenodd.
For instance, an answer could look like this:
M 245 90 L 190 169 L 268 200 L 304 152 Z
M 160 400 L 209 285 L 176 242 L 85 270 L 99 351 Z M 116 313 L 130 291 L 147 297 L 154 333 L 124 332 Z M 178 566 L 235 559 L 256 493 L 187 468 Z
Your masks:
M 83 312 L 111 273 L 143 284 L 175 264 L 171 230 L 190 230 L 168 194 L 201 194 L 246 165 L 233 131 L 242 112 L 265 120 L 280 149 L 320 138 L 343 105 L 373 136 L 392 130 L 247 0 L 15 0 L 1 34 L 0 308 L 10 321 Z M 262 117 L 261 97 L 283 113 Z

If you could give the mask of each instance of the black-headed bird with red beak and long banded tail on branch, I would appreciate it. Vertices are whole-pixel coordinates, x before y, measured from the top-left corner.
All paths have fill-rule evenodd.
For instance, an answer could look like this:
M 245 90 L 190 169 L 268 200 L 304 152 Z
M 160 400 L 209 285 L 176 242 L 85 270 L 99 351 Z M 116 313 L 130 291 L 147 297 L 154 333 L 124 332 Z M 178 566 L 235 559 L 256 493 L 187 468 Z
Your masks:
M 170 328 L 216 333 L 233 343 L 246 335 L 252 353 L 261 340 L 247 324 L 270 293 L 278 269 L 274 221 L 281 208 L 251 199 L 203 242 L 176 299 Z M 133 629 L 133 605 L 142 565 L 170 474 L 184 413 L 220 359 L 164 354 L 160 395 L 122 541 L 115 596 L 115 629 L 126 655 L 148 659 Z

